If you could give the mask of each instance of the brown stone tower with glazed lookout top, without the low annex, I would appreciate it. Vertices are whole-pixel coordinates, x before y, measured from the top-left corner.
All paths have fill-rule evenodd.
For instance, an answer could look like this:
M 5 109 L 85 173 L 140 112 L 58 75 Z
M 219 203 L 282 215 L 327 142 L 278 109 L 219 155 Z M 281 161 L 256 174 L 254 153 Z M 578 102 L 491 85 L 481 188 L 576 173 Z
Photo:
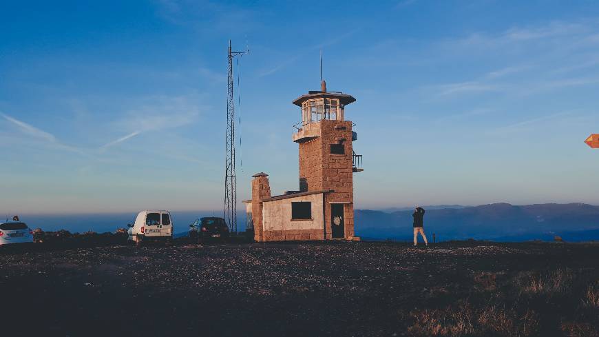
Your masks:
M 294 125 L 293 141 L 300 146 L 300 192 L 324 194 L 325 239 L 354 237 L 353 173 L 361 172 L 361 156 L 353 151 L 353 123 L 345 119 L 346 105 L 356 99 L 341 92 L 310 91 L 293 104 L 302 121 Z

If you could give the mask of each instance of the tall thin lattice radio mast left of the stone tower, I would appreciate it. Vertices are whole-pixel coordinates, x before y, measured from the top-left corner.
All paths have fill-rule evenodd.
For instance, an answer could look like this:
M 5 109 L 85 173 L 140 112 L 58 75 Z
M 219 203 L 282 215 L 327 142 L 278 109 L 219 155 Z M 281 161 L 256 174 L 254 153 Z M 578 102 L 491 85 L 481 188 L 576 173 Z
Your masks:
M 233 100 L 233 57 L 246 54 L 233 52 L 229 40 L 229 72 L 227 76 L 227 154 L 224 159 L 224 220 L 231 232 L 237 233 L 237 182 L 235 181 L 235 104 Z

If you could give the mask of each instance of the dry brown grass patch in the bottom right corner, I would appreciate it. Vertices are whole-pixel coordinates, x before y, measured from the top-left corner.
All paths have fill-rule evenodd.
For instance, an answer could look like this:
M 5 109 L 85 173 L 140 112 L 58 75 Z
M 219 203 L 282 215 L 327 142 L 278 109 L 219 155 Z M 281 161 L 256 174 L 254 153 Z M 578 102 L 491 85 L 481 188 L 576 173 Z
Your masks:
M 599 337 L 599 282 L 590 274 L 567 268 L 521 272 L 512 278 L 504 272 L 480 272 L 473 281 L 469 300 L 410 312 L 408 334 L 525 337 L 554 331 Z M 549 313 L 559 318 L 548 319 Z

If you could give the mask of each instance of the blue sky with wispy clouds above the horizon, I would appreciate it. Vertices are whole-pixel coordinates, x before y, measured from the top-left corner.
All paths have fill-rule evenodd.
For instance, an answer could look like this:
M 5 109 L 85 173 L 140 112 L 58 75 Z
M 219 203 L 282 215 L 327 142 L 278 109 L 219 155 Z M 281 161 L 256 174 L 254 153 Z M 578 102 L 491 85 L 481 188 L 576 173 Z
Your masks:
M 597 1 L 0 1 L 0 213 L 221 212 L 229 39 L 240 201 L 322 50 L 355 208 L 599 205 Z

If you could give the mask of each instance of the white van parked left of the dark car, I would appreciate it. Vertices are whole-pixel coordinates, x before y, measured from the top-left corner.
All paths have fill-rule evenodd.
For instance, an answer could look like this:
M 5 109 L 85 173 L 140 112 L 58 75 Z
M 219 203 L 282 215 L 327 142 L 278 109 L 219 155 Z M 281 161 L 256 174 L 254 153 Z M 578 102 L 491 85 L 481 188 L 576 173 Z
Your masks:
M 137 214 L 134 224 L 129 224 L 128 240 L 140 245 L 143 241 L 167 241 L 173 238 L 173 219 L 165 210 L 145 210 Z

